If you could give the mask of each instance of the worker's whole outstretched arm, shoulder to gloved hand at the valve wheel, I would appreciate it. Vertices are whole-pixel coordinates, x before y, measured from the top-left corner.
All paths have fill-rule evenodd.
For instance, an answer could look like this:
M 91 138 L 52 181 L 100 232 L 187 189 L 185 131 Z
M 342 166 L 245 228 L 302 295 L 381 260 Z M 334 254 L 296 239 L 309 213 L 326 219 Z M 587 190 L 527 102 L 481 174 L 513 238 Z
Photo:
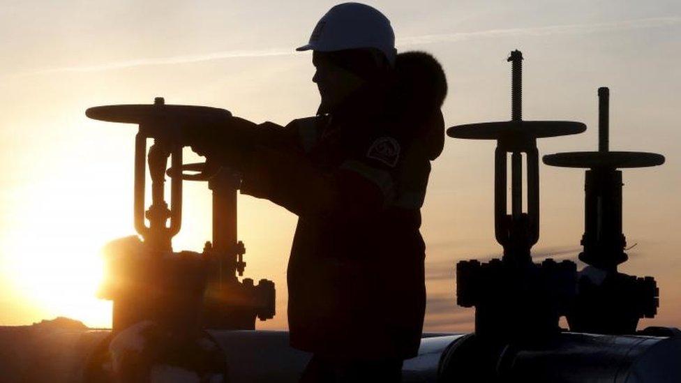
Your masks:
M 299 216 L 352 220 L 384 209 L 396 194 L 400 144 L 392 137 L 358 142 L 335 169 L 322 169 L 306 154 L 303 124 L 257 125 L 234 118 L 193 149 L 241 171 L 241 193 L 264 198 Z M 309 126 L 309 125 L 308 125 Z

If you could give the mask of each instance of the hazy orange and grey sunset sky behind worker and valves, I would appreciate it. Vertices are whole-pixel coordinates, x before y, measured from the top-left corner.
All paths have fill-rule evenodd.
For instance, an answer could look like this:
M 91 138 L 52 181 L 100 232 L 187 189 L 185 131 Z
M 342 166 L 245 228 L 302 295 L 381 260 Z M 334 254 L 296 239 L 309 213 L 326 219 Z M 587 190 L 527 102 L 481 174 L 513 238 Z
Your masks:
M 135 126 L 93 121 L 87 107 L 167 103 L 223 107 L 251 121 L 313 115 L 307 42 L 336 2 L 15 1 L 0 4 L 0 325 L 55 316 L 110 326 L 94 296 L 100 248 L 133 229 Z M 652 151 L 662 167 L 624 171 L 622 271 L 654 276 L 661 307 L 643 325 L 681 325 L 681 2 L 367 1 L 389 17 L 398 50 L 424 50 L 449 80 L 447 126 L 510 119 L 507 54 L 524 61 L 523 117 L 582 121 L 581 135 L 541 140 L 541 154 L 597 147 L 597 88 L 611 89 L 611 149 Z M 493 233 L 492 142 L 447 139 L 433 163 L 422 232 L 427 331 L 470 331 L 454 264 L 500 255 Z M 188 149 L 186 162 L 198 160 Z M 541 165 L 537 257 L 574 259 L 583 234 L 583 171 Z M 174 249 L 210 238 L 210 193 L 186 183 Z M 296 217 L 239 197 L 246 276 L 277 285 Z

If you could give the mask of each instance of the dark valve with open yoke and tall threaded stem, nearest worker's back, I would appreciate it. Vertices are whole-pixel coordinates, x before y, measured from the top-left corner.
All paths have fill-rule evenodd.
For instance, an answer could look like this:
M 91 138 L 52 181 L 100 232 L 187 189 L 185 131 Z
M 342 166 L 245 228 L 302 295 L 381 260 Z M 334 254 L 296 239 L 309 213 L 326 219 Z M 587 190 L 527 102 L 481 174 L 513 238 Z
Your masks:
M 537 138 L 581 133 L 573 121 L 523 121 L 522 60 L 511 52 L 511 121 L 454 126 L 447 135 L 497 140 L 495 149 L 495 236 L 504 248 L 501 260 L 459 262 L 456 268 L 458 304 L 476 308 L 478 336 L 506 338 L 557 333 L 558 319 L 567 313 L 574 295 L 576 264 L 546 260 L 534 264 L 530 249 L 539 239 L 539 155 Z M 511 153 L 511 213 L 507 206 L 507 156 Z M 523 212 L 523 153 L 527 165 L 527 211 Z

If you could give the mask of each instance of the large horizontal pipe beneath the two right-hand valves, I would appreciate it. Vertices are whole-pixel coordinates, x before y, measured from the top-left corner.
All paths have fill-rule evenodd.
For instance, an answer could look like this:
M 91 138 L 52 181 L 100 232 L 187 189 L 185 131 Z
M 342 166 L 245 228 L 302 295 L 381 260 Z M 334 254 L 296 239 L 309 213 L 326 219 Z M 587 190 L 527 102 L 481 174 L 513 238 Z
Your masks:
M 468 334 L 442 353 L 437 382 L 675 383 L 680 355 L 678 337 L 560 333 L 490 349 Z

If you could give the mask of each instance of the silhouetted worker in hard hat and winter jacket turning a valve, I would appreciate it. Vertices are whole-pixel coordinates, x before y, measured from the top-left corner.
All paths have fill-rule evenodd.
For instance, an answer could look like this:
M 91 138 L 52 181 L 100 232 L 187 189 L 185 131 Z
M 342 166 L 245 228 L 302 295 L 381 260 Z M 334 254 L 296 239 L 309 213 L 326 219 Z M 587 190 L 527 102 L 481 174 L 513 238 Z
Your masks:
M 334 6 L 310 41 L 321 103 L 282 127 L 232 118 L 188 140 L 239 170 L 241 193 L 299 216 L 287 270 L 292 347 L 313 353 L 301 382 L 399 382 L 424 320 L 420 207 L 444 144 L 442 68 L 397 54 L 389 20 Z

